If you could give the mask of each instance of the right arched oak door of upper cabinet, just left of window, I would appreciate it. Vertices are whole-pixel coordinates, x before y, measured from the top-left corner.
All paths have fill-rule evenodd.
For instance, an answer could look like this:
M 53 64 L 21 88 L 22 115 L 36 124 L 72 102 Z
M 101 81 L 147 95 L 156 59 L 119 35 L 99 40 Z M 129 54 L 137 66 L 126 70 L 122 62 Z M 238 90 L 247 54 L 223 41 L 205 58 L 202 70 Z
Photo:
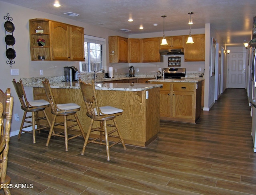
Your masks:
M 84 28 L 70 27 L 71 60 L 84 61 Z

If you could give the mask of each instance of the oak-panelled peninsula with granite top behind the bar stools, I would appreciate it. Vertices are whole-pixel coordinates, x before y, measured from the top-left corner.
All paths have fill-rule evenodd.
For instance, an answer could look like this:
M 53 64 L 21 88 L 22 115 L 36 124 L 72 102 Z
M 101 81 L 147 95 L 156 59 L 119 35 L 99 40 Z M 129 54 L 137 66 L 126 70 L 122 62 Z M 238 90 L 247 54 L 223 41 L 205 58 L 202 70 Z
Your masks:
M 43 79 L 40 77 L 34 79 L 35 82 L 23 82 L 24 87 L 33 87 L 34 99 L 46 99 Z M 90 118 L 86 116 L 79 83 L 50 81 L 50 85 L 57 104 L 73 102 L 81 106 L 78 117 L 84 132 L 87 132 Z M 124 110 L 116 120 L 126 144 L 146 147 L 157 138 L 160 128 L 161 86 L 160 83 L 96 83 L 100 106 L 109 105 Z M 51 118 L 50 108 L 46 112 Z

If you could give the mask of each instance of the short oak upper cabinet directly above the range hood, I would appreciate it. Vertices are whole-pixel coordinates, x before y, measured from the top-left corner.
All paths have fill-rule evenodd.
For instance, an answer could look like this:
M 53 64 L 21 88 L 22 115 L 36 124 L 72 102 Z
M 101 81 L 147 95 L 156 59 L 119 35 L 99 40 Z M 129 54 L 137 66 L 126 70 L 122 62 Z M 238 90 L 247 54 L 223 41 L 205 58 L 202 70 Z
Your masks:
M 160 45 L 160 49 L 180 49 L 184 48 L 185 36 L 165 37 L 168 45 Z M 160 44 L 163 37 L 160 37 Z

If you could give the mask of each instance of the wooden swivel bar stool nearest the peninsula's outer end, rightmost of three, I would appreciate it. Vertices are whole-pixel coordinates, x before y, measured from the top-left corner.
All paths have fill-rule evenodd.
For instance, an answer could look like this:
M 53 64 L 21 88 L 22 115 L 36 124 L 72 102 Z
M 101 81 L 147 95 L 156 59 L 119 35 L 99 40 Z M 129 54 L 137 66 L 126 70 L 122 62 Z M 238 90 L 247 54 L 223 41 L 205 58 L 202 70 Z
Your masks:
M 100 144 L 100 145 L 102 144 L 102 145 L 106 145 L 107 160 L 110 161 L 110 151 L 109 151 L 110 147 L 121 142 L 124 147 L 124 150 L 126 150 L 124 140 L 120 134 L 118 125 L 116 123 L 116 116 L 121 115 L 123 113 L 123 110 L 112 107 L 112 106 L 99 107 L 98 99 L 96 96 L 94 80 L 92 80 L 92 84 L 90 83 L 86 84 L 82 82 L 81 79 L 79 79 L 79 81 L 80 81 L 80 89 L 82 91 L 82 95 L 83 95 L 84 102 L 87 109 L 86 115 L 91 118 L 90 126 L 86 135 L 86 140 L 84 142 L 84 146 L 81 154 L 84 155 L 84 151 L 88 143 L 94 143 L 94 144 Z M 94 120 L 100 121 L 99 127 L 96 127 L 96 128 L 92 127 Z M 113 120 L 114 124 L 108 124 L 107 121 L 110 121 L 110 120 Z M 108 132 L 107 127 L 113 127 L 114 129 Z M 89 140 L 90 133 L 94 131 L 100 132 L 100 135 L 97 138 L 93 138 L 92 140 Z M 118 136 L 113 135 L 114 132 L 117 132 Z M 103 136 L 105 137 L 105 142 L 102 142 Z M 113 144 L 109 145 L 108 137 L 118 138 L 118 140 L 115 141 Z

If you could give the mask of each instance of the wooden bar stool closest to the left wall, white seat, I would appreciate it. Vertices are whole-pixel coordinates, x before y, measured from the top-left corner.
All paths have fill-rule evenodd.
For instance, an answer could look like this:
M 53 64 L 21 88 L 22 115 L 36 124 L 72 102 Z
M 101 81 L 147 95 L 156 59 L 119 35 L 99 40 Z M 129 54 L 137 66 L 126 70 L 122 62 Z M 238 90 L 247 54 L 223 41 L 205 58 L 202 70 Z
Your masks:
M 22 132 L 32 133 L 33 144 L 36 144 L 36 131 L 50 128 L 51 123 L 45 112 L 45 108 L 49 107 L 50 103 L 43 99 L 33 100 L 28 102 L 26 93 L 22 84 L 22 80 L 20 79 L 20 83 L 18 83 L 15 81 L 15 79 L 13 79 L 12 83 L 14 85 L 18 98 L 20 99 L 21 109 L 24 110 L 24 115 L 20 125 L 18 140 L 20 140 L 20 136 Z M 32 116 L 26 116 L 28 112 L 31 112 Z M 44 115 L 40 117 L 39 112 L 43 112 Z M 32 121 L 27 120 L 28 118 L 32 118 Z M 40 123 L 40 120 L 47 120 L 47 124 Z M 24 126 L 25 123 L 28 123 L 30 125 Z M 31 127 L 31 126 L 32 126 L 32 132 L 24 130 L 24 128 Z

